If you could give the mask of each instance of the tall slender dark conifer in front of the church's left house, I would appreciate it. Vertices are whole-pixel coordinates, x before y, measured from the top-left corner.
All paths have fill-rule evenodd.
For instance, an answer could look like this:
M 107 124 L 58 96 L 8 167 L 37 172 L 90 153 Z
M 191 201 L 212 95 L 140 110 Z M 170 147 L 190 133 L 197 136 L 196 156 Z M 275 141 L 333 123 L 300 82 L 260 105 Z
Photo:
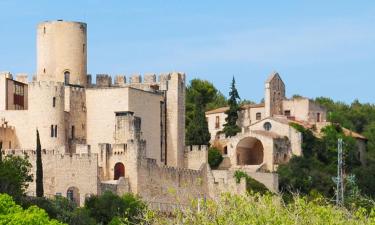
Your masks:
M 238 104 L 239 99 L 240 96 L 238 95 L 238 91 L 236 88 L 236 81 L 233 77 L 231 91 L 229 92 L 228 99 L 229 109 L 225 112 L 225 114 L 227 115 L 227 117 L 225 118 L 226 123 L 224 124 L 223 129 L 225 137 L 233 137 L 241 131 L 241 128 L 237 125 L 238 112 L 240 110 L 240 106 Z

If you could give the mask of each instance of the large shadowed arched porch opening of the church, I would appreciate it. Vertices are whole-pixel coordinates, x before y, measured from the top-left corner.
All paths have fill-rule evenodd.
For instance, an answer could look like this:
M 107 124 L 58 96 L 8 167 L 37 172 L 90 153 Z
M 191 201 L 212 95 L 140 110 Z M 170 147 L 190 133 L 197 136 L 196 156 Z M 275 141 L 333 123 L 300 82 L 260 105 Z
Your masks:
M 263 144 L 257 138 L 246 137 L 237 144 L 236 155 L 237 165 L 260 165 L 264 157 Z

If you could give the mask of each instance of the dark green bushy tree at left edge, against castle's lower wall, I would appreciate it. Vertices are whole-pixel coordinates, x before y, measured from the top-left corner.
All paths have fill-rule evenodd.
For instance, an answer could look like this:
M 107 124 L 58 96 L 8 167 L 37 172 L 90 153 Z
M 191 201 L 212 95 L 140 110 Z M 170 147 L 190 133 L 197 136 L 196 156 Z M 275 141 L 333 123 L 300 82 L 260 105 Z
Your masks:
M 32 182 L 31 164 L 28 158 L 6 156 L 0 162 L 0 193 L 12 196 L 17 202 L 25 195 L 28 183 Z

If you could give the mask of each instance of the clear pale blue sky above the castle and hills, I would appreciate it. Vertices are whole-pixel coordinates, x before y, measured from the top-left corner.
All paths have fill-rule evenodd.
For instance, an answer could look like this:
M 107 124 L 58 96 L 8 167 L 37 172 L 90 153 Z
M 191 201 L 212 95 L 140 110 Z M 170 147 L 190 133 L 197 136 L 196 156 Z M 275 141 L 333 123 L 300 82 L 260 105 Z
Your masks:
M 294 94 L 375 103 L 375 1 L 0 0 L 0 71 L 35 74 L 36 26 L 88 24 L 88 72 L 185 72 L 260 101 L 277 71 Z

